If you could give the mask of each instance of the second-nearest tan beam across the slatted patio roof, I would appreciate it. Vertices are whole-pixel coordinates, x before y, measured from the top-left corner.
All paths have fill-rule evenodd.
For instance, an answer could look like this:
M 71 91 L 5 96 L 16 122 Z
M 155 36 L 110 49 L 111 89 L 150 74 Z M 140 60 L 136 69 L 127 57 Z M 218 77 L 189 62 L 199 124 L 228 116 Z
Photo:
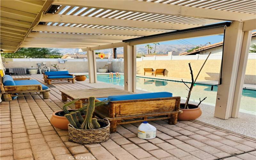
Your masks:
M 121 26 L 121 27 L 134 27 L 134 28 L 156 28 L 156 29 L 169 29 L 180 30 L 187 28 L 199 27 L 201 25 L 193 24 L 179 24 L 179 23 L 160 23 L 142 20 L 122 20 L 115 18 L 101 18 L 101 17 L 88 17 L 76 16 L 66 14 L 52 14 L 47 13 L 41 19 L 41 22 L 59 22 L 71 24 L 94 24 L 102 26 Z

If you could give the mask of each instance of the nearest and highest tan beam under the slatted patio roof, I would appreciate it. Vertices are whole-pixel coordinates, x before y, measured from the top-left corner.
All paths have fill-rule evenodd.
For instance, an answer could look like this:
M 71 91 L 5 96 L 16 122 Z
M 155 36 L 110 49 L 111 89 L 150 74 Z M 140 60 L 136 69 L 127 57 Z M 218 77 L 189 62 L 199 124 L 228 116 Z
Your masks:
M 145 12 L 153 14 L 165 14 L 174 16 L 185 16 L 195 18 L 205 18 L 214 20 L 251 20 L 254 14 L 230 12 L 199 7 L 190 7 L 176 4 L 163 4 L 145 1 L 126 1 L 126 0 L 55 0 L 53 4 L 79 6 L 88 8 L 102 8 L 119 11 Z

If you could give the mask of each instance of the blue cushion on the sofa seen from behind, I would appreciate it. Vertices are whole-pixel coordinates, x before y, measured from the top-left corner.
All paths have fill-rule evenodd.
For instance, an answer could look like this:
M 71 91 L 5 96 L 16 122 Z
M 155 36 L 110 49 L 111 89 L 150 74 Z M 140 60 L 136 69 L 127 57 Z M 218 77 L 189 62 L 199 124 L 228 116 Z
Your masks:
M 141 99 L 150 99 L 150 98 L 165 98 L 172 97 L 170 92 L 153 92 L 153 93 L 140 93 L 140 94 L 126 94 L 126 95 L 115 95 L 108 96 L 108 100 L 141 100 Z

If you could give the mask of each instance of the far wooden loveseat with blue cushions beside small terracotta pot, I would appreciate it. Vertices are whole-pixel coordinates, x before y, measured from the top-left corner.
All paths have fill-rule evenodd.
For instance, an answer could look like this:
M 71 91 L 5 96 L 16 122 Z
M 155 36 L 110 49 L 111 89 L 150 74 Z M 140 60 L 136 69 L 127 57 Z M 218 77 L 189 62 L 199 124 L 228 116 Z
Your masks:
M 68 71 L 44 72 L 44 83 L 51 84 L 52 81 L 72 81 L 75 83 L 75 77 Z

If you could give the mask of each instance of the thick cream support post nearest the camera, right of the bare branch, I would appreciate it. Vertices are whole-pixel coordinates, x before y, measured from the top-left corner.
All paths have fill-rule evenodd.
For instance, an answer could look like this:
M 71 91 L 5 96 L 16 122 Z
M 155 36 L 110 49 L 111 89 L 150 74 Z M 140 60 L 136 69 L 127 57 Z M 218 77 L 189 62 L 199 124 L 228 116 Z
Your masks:
M 221 119 L 231 117 L 242 38 L 243 22 L 235 21 L 226 28 L 224 52 L 222 53 L 222 84 L 218 86 L 214 113 L 215 117 Z

